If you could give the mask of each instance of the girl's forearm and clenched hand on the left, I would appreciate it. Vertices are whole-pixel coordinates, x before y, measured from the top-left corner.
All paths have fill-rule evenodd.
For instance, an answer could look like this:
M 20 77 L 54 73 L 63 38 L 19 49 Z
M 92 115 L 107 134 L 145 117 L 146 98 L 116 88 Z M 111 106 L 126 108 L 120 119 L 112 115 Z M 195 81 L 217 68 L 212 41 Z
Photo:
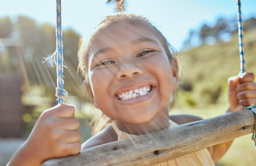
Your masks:
M 80 151 L 80 122 L 74 107 L 58 104 L 42 113 L 24 144 L 12 156 L 9 166 L 41 165 L 45 160 Z

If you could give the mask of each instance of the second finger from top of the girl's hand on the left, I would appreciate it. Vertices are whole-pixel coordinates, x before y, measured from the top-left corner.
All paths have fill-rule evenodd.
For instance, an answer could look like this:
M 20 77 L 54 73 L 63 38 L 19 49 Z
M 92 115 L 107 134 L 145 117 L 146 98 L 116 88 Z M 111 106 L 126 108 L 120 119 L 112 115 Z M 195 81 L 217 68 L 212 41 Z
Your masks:
M 60 118 L 59 120 L 63 130 L 77 130 L 80 127 L 80 121 L 77 118 Z

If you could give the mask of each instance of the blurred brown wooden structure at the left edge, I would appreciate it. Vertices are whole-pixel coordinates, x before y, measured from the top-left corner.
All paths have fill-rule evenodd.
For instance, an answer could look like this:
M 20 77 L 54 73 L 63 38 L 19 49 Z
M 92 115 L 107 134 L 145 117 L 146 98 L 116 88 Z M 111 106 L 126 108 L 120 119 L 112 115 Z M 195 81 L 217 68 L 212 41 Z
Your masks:
M 0 47 L 3 50 L 15 48 L 19 59 L 19 67 L 15 71 L 0 71 L 0 137 L 21 137 L 24 134 L 24 105 L 21 102 L 24 52 L 19 51 L 22 49 L 19 39 L 0 38 Z

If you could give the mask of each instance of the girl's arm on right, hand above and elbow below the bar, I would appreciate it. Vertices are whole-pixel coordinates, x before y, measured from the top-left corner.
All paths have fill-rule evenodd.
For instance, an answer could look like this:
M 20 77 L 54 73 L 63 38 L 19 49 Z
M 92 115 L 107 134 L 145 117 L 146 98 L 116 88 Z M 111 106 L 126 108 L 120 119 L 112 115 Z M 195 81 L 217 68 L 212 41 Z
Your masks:
M 254 80 L 255 75 L 251 72 L 228 79 L 228 102 L 230 107 L 227 112 L 243 110 L 244 107 L 250 104 L 256 105 L 256 83 Z M 233 140 L 230 140 L 209 148 L 214 162 L 217 162 L 226 154 L 232 142 Z

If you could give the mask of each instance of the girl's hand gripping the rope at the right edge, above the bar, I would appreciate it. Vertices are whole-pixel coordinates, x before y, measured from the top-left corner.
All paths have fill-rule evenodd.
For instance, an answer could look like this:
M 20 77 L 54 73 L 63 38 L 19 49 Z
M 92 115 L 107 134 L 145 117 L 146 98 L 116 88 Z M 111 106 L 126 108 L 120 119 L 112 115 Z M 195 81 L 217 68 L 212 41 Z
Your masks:
M 228 79 L 228 102 L 230 103 L 228 112 L 242 110 L 250 104 L 256 105 L 256 83 L 254 79 L 255 75 L 251 72 L 242 73 Z

